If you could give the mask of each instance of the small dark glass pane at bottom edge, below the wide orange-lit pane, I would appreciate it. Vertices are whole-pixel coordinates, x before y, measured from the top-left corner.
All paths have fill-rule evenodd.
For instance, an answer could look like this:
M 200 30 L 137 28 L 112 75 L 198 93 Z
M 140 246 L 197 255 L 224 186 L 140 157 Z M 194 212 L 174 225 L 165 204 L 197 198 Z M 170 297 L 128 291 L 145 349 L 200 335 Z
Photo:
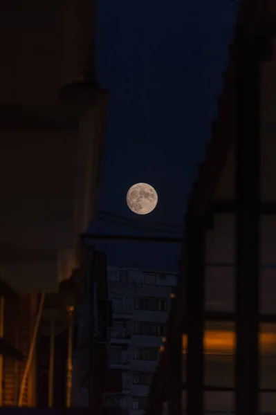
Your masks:
M 233 392 L 205 392 L 205 413 L 223 413 L 234 411 L 234 394 Z

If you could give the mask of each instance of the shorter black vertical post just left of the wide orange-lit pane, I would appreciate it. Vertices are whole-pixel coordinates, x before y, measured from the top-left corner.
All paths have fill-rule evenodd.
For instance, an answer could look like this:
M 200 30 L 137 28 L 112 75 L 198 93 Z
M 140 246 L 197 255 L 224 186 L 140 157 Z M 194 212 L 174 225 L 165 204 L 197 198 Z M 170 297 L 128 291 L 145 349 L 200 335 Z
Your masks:
M 205 223 L 190 214 L 187 225 L 187 415 L 204 414 Z

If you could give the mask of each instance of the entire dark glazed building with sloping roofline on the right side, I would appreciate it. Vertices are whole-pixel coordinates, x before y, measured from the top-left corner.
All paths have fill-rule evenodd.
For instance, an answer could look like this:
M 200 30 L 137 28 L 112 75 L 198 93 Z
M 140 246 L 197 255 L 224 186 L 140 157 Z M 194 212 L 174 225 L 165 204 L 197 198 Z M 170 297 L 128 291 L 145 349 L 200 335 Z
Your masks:
M 276 2 L 241 0 L 147 415 L 276 413 Z

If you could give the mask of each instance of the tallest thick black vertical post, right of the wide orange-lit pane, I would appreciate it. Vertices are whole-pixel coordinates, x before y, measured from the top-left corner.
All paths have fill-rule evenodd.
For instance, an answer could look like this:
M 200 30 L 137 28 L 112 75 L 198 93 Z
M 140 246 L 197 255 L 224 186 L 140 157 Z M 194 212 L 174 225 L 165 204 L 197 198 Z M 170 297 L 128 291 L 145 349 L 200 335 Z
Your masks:
M 235 60 L 235 190 L 237 415 L 259 413 L 259 42 L 237 28 Z

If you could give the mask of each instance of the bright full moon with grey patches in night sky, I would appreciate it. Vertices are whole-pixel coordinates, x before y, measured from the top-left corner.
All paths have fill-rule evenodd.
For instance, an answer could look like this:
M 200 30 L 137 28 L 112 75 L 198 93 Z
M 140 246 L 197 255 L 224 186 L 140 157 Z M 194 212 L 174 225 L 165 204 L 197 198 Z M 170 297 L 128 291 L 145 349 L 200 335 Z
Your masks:
M 148 214 L 157 205 L 156 190 L 147 183 L 136 183 L 127 192 L 127 205 L 136 214 Z

